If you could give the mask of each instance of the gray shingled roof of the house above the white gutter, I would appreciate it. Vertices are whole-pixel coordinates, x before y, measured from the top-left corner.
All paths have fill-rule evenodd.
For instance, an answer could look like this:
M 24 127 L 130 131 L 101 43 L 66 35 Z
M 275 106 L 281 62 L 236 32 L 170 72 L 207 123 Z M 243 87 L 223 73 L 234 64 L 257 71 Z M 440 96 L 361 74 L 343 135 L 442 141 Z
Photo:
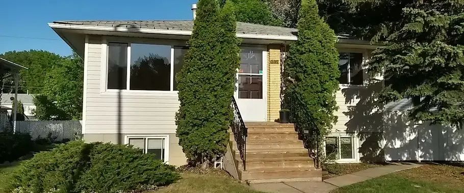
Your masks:
M 192 31 L 192 20 L 142 20 L 142 21 L 54 21 L 54 23 L 71 25 L 93 25 L 109 27 L 127 27 L 136 29 L 158 29 Z M 237 22 L 237 34 L 296 36 L 296 29 Z

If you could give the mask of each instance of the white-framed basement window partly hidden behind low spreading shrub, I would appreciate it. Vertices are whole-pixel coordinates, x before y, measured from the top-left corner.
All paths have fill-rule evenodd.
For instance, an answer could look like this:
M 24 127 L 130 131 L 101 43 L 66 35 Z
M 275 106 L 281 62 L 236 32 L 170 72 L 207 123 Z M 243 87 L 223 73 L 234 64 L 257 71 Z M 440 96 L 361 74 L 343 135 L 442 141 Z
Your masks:
M 168 136 L 126 136 L 126 144 L 134 146 L 142 153 L 153 154 L 156 159 L 167 161 Z

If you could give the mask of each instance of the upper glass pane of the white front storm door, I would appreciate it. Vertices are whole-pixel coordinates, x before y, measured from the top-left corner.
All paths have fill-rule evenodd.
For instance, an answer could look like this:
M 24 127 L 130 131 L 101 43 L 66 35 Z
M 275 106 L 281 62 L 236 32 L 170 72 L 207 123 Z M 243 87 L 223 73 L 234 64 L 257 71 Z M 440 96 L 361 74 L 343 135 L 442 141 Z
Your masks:
M 263 52 L 259 49 L 243 48 L 240 51 L 239 73 L 261 74 L 263 71 Z

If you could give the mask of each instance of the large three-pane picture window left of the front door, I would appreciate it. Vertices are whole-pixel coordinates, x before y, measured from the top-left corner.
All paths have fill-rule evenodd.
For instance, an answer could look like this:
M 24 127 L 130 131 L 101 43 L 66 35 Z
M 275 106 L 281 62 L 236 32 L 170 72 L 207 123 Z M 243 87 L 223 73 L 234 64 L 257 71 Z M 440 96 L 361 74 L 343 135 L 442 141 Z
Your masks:
M 171 45 L 110 42 L 107 88 L 175 91 L 175 74 L 184 64 L 187 50 Z

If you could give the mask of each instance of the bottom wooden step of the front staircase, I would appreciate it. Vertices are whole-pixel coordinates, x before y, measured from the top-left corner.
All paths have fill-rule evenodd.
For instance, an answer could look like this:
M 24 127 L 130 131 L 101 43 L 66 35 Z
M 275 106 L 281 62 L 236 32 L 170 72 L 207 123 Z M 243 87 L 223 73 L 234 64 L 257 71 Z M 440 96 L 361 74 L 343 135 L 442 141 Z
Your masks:
M 288 169 L 266 169 L 266 170 L 247 170 L 240 171 L 239 175 L 242 180 L 250 180 L 250 183 L 264 182 L 285 182 L 285 181 L 320 181 L 321 169 L 311 170 L 288 170 Z M 261 180 L 261 181 L 260 181 Z

